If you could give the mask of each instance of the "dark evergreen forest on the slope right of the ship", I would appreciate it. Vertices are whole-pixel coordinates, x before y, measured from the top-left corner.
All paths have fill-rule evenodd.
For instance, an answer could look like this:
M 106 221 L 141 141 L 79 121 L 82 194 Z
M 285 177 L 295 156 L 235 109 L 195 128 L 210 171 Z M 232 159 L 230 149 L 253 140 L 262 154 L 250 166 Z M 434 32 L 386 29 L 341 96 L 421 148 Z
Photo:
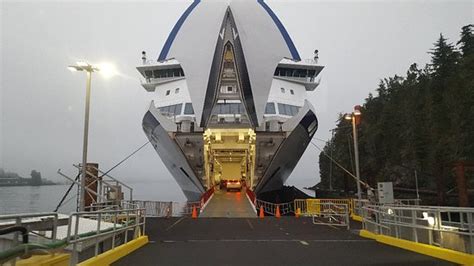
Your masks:
M 442 34 L 434 37 L 427 51 L 430 63 L 413 63 L 405 76 L 382 79 L 375 95 L 360 104 L 360 176 L 370 187 L 391 181 L 396 196 L 413 198 L 416 172 L 424 203 L 457 205 L 453 169 L 463 162 L 467 187 L 474 189 L 474 167 L 468 167 L 474 166 L 473 28 L 462 27 L 455 43 Z M 354 178 L 329 157 L 355 173 L 352 127 L 344 114 L 320 153 L 318 187 L 353 195 Z M 471 194 L 471 206 L 473 198 Z

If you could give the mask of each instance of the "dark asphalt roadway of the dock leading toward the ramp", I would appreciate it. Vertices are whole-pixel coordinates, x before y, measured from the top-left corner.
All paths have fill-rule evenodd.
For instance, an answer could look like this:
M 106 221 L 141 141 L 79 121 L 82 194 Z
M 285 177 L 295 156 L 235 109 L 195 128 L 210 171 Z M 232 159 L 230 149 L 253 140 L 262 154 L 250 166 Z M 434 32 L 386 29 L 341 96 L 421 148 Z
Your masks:
M 150 243 L 113 265 L 452 265 L 356 231 L 294 217 L 149 218 Z

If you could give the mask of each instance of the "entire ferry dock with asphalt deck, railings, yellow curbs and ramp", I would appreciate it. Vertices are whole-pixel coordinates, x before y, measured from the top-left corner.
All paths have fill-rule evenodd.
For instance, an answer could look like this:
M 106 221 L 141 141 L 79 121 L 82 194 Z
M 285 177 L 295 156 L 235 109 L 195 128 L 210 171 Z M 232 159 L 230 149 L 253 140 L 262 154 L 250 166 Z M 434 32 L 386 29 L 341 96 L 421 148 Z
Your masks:
M 0 263 L 474 265 L 473 208 L 407 205 L 406 200 L 276 204 L 248 192 L 210 190 L 200 202 L 184 205 L 123 202 L 71 213 L 67 225 L 57 213 L 0 216 Z M 179 212 L 170 209 L 178 207 Z

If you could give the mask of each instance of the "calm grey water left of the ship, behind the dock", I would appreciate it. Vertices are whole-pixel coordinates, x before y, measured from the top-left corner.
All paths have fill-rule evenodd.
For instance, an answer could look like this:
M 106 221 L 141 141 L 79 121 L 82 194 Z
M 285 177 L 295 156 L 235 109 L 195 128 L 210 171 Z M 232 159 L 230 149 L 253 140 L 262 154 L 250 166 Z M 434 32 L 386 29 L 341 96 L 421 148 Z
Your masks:
M 174 180 L 153 180 L 129 182 L 133 188 L 133 198 L 141 200 L 184 202 L 186 198 Z M 69 185 L 0 187 L 0 215 L 11 213 L 51 212 L 56 209 Z M 73 188 L 67 199 L 76 195 Z M 125 197 L 128 197 L 126 195 Z M 76 209 L 76 199 L 71 198 L 59 209 L 70 213 Z

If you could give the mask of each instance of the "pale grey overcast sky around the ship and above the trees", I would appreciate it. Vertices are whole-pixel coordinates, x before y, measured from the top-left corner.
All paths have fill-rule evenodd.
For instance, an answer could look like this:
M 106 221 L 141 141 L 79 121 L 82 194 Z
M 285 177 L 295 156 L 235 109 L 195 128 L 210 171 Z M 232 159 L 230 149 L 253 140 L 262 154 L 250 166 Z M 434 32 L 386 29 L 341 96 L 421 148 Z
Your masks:
M 141 121 L 151 95 L 135 66 L 142 50 L 157 57 L 189 1 L 0 3 L 0 167 L 23 176 L 36 169 L 56 180 L 59 168 L 76 174 L 71 164 L 82 156 L 85 75 L 66 66 L 80 59 L 114 63 L 121 73 L 93 77 L 89 161 L 108 169 L 147 141 Z M 474 21 L 474 1 L 267 3 L 302 58 L 320 51 L 325 69 L 309 99 L 318 111 L 315 137 L 325 140 L 338 113 L 362 103 L 379 79 L 428 63 L 441 32 L 455 42 Z M 288 183 L 313 185 L 318 156 L 309 146 Z M 172 179 L 151 146 L 112 174 L 125 181 Z

